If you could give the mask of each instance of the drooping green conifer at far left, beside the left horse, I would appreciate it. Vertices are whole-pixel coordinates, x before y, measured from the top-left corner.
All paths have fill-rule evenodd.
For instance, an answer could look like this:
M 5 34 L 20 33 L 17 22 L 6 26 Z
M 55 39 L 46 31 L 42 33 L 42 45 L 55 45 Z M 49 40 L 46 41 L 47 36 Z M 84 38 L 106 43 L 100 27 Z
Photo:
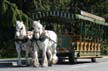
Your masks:
M 32 20 L 23 13 L 22 10 L 18 9 L 16 4 L 10 1 L 2 0 L 0 7 L 0 56 L 12 57 L 11 53 L 15 53 L 15 48 L 13 47 L 16 20 L 23 20 L 26 26 L 29 25 Z M 7 55 L 7 50 L 9 49 L 10 51 L 13 50 L 13 52 Z

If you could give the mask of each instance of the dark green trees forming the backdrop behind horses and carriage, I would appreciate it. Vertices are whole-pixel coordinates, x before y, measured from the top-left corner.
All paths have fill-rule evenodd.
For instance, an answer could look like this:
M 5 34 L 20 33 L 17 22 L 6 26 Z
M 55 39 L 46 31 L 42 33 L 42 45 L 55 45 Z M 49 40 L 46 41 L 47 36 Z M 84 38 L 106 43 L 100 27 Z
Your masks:
M 0 57 L 6 57 L 7 50 L 14 51 L 14 32 L 16 20 L 24 21 L 26 26 L 31 26 L 32 12 L 38 11 L 68 11 L 79 12 L 84 10 L 108 20 L 108 0 L 0 0 Z M 104 37 L 107 29 L 104 28 Z M 87 28 L 88 29 L 88 28 Z M 93 28 L 95 31 L 96 28 Z M 7 35 L 8 34 L 8 35 Z M 6 50 L 4 50 L 6 49 Z M 7 55 L 13 57 L 15 55 Z

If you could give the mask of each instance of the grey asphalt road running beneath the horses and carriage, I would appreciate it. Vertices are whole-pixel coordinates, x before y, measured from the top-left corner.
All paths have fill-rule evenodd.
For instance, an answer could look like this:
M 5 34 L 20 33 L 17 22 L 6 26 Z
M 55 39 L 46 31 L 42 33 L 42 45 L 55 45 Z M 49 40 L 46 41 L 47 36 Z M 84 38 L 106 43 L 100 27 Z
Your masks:
M 53 65 L 52 67 L 37 68 L 32 66 L 17 67 L 12 66 L 11 64 L 6 65 L 6 61 L 11 62 L 13 60 L 0 60 L 0 71 L 108 71 L 108 58 L 97 59 L 96 63 L 91 63 L 88 59 L 80 59 L 77 64 L 69 64 L 68 62 L 64 62 Z

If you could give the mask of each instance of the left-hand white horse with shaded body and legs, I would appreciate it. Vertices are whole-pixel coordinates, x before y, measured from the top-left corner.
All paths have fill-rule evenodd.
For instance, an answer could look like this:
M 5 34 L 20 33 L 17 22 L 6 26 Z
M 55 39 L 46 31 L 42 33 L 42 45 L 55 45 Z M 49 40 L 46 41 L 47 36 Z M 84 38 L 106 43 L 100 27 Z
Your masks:
M 22 21 L 16 21 L 15 45 L 18 53 L 18 66 L 22 65 L 21 50 L 26 52 L 25 57 L 27 64 L 29 64 L 28 55 L 32 51 L 32 38 L 33 32 L 27 31 Z

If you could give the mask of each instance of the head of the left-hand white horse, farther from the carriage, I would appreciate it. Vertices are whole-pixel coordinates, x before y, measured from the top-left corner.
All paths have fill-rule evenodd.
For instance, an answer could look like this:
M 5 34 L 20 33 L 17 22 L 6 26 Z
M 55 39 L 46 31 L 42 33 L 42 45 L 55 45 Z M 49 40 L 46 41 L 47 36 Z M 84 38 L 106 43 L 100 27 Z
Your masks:
M 26 28 L 23 21 L 16 21 L 16 34 L 17 39 L 23 39 L 26 36 Z

